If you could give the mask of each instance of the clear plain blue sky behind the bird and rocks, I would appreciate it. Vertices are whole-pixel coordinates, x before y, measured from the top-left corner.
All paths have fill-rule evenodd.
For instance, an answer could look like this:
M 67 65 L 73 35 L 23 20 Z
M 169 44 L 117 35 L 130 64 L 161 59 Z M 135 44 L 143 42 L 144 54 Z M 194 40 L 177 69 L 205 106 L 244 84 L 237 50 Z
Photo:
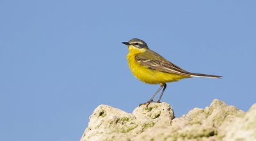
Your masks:
M 100 104 L 132 112 L 159 87 L 132 76 L 122 41 L 195 73 L 168 84 L 176 117 L 214 98 L 256 101 L 255 1 L 0 1 L 1 140 L 79 140 Z

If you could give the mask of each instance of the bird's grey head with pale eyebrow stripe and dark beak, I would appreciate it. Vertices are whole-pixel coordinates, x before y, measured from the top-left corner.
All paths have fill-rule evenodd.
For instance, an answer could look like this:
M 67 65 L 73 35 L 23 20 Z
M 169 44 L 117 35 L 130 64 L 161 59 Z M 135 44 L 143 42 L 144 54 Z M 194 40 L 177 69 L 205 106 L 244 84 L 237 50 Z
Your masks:
M 145 41 L 140 40 L 138 38 L 133 38 L 128 42 L 122 42 L 125 45 L 128 45 L 129 50 L 136 49 L 136 50 L 145 50 L 148 48 L 148 45 Z

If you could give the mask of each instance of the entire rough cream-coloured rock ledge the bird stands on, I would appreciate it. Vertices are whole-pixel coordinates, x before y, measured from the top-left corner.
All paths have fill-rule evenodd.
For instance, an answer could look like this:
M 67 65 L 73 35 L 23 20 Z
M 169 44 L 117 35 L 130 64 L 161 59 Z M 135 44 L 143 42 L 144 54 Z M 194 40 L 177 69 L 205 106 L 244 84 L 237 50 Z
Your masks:
M 132 114 L 100 105 L 90 116 L 80 141 L 90 140 L 256 140 L 256 104 L 248 113 L 213 100 L 175 118 L 168 103 L 135 108 Z

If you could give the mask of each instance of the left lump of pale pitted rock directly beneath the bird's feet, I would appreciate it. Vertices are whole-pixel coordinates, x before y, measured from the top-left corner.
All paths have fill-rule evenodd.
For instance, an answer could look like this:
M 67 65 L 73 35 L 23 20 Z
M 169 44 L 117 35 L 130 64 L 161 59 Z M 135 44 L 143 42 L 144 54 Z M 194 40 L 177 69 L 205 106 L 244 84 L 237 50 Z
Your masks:
M 168 103 L 152 103 L 148 107 L 142 105 L 136 108 L 133 114 L 100 105 L 90 116 L 88 128 L 84 131 L 81 141 L 131 140 L 156 123 L 170 126 L 173 118 L 174 113 Z

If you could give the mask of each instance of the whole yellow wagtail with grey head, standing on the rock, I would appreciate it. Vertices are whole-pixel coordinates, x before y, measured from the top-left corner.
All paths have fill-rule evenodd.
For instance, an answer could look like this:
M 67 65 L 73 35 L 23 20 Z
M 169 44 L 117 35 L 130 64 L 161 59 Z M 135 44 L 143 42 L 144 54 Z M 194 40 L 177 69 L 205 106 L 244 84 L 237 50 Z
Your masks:
M 140 105 L 154 102 L 153 99 L 161 89 L 163 89 L 159 99 L 156 102 L 160 102 L 166 89 L 166 82 L 175 82 L 182 78 L 191 77 L 207 77 L 207 78 L 220 78 L 218 75 L 205 75 L 200 73 L 190 73 L 182 70 L 179 66 L 164 59 L 156 52 L 150 50 L 145 41 L 134 38 L 128 42 L 122 42 L 128 45 L 129 54 L 127 55 L 129 67 L 133 75 L 147 84 L 160 84 L 159 89 L 150 98 L 149 101 L 141 103 Z

